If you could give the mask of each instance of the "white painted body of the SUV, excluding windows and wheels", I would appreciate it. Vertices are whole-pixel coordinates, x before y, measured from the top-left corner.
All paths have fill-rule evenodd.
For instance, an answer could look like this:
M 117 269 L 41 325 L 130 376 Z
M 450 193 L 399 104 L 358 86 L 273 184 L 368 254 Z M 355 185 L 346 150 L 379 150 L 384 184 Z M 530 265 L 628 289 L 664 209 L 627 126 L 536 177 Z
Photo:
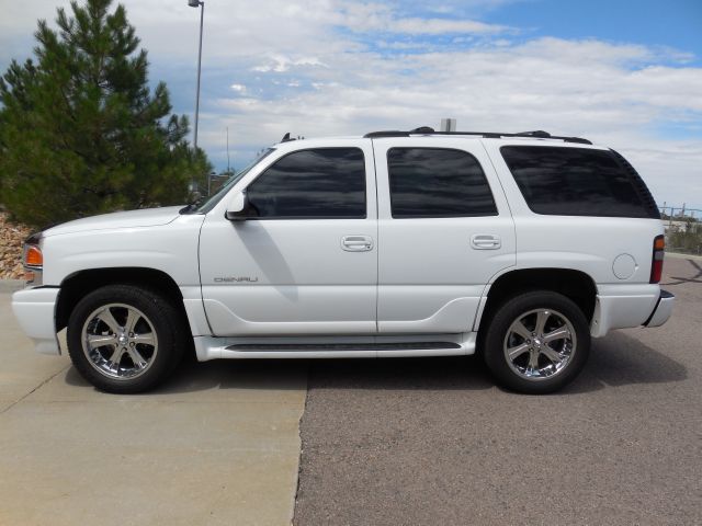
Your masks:
M 567 268 L 587 274 L 597 286 L 593 336 L 644 323 L 660 294 L 648 278 L 661 222 L 532 213 L 499 153 L 509 144 L 584 147 L 441 136 L 281 144 L 206 215 L 136 210 L 48 230 L 42 239 L 46 288 L 16 293 L 14 312 L 39 351 L 57 352 L 54 310 L 67 277 L 89 268 L 147 267 L 166 273 L 180 287 L 200 359 L 471 354 L 489 287 L 499 276 L 513 270 Z M 394 146 L 456 148 L 475 156 L 498 215 L 393 219 L 386 155 Z M 366 218 L 226 219 L 227 207 L 241 205 L 241 192 L 265 168 L 291 151 L 316 147 L 363 150 Z M 344 238 L 352 243 L 344 245 Z M 499 242 L 486 247 L 490 239 Z M 363 250 L 347 250 L 361 241 Z M 222 279 L 227 277 L 236 279 Z M 672 299 L 660 301 L 652 327 L 668 319 L 671 305 Z M 242 339 L 281 344 L 453 341 L 460 350 L 226 348 Z

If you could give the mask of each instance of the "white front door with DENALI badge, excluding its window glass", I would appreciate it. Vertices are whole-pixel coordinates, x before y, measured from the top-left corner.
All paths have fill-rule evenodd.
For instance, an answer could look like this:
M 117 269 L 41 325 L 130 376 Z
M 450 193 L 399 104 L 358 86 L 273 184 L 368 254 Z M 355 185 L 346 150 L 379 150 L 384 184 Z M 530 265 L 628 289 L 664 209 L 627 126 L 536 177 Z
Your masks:
M 339 146 L 363 151 L 365 219 L 229 221 L 225 217 L 226 207 L 233 206 L 228 197 L 207 215 L 200 238 L 200 273 L 205 310 L 216 335 L 375 332 L 377 250 L 372 245 L 348 251 L 341 244 L 350 236 L 377 239 L 370 140 L 286 142 L 233 192 L 240 195 L 264 168 L 291 150 Z M 218 281 L 229 276 L 245 279 Z

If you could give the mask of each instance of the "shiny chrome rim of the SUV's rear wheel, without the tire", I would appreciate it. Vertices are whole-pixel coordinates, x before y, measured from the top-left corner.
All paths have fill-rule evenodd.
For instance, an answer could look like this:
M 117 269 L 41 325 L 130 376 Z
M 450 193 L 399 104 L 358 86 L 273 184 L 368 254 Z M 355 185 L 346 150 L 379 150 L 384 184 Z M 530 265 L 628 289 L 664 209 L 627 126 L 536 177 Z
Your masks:
M 542 380 L 558 375 L 573 361 L 576 331 L 556 310 L 530 310 L 507 330 L 503 351 L 512 371 L 528 380 Z

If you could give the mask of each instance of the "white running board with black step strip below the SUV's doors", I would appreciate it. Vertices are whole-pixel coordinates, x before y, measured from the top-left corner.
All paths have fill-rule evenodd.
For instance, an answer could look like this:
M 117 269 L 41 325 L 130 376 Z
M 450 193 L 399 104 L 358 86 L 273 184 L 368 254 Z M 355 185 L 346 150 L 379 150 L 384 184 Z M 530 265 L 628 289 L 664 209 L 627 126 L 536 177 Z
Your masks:
M 475 352 L 475 333 L 451 335 L 455 341 L 348 341 L 333 343 L 285 343 L 252 342 L 251 339 L 241 343 L 237 339 L 196 336 L 195 350 L 200 362 L 215 358 L 376 358 L 401 356 L 456 356 Z M 332 340 L 332 339 L 329 339 Z

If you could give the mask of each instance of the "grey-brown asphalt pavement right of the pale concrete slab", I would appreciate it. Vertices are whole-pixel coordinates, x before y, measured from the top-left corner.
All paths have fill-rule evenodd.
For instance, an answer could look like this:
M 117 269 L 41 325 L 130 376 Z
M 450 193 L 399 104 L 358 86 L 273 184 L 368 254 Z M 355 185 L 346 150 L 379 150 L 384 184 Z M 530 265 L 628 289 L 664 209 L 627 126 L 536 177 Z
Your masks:
M 313 362 L 294 523 L 702 524 L 702 262 L 664 284 L 673 318 L 596 340 L 553 396 L 473 357 Z

